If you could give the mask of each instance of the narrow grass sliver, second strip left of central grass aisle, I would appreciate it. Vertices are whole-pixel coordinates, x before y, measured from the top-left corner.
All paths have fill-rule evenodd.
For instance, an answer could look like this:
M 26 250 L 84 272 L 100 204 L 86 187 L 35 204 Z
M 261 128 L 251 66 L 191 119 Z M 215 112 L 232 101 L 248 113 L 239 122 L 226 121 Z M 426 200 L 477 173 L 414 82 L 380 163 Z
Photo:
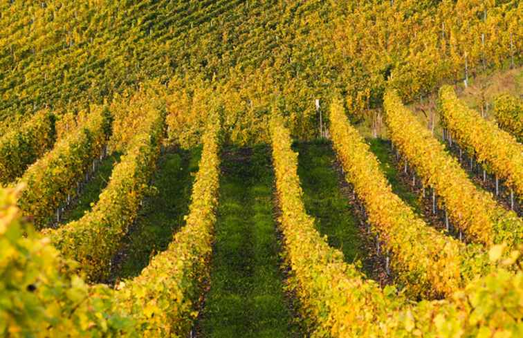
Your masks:
M 102 160 L 95 175 L 84 187 L 80 198 L 76 201 L 75 207 L 64 212 L 62 223 L 79 220 L 98 202 L 100 194 L 107 187 L 107 183 L 109 183 L 113 167 L 120 160 L 120 156 L 121 153 L 112 153 L 111 156 L 107 156 L 107 158 Z

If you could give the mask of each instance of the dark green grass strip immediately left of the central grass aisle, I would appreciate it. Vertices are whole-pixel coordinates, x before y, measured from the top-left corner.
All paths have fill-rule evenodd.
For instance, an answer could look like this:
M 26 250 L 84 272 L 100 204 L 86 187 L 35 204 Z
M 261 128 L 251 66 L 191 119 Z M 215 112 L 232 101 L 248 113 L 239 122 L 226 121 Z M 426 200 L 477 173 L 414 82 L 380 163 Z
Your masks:
M 125 238 L 113 278 L 137 276 L 149 259 L 172 241 L 189 210 L 193 175 L 200 156 L 201 149 L 176 149 L 160 158 L 153 180 L 157 193 L 146 198 L 136 224 Z

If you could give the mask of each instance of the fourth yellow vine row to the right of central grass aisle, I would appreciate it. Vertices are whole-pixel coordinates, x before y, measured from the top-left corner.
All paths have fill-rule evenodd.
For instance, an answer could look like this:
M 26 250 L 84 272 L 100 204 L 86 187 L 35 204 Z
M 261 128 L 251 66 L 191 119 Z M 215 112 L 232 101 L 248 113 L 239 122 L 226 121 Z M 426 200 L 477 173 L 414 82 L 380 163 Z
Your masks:
M 479 113 L 460 102 L 452 86 L 439 91 L 439 111 L 443 126 L 461 147 L 473 153 L 498 178 L 523 198 L 523 144 L 497 127 L 495 122 L 481 118 Z

